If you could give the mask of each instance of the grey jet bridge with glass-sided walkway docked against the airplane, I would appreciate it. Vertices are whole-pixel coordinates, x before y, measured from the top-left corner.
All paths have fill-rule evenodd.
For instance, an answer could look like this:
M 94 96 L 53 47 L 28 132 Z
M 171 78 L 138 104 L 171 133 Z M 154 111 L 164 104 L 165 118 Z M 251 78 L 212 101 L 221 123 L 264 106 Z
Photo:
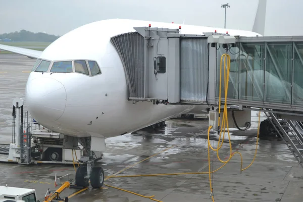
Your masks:
M 124 65 L 129 99 L 218 105 L 220 60 L 227 52 L 231 58 L 229 105 L 303 112 L 302 36 L 234 37 L 134 29 L 111 38 Z M 220 44 L 220 35 L 234 41 L 233 45 Z M 208 39 L 219 43 L 214 46 Z

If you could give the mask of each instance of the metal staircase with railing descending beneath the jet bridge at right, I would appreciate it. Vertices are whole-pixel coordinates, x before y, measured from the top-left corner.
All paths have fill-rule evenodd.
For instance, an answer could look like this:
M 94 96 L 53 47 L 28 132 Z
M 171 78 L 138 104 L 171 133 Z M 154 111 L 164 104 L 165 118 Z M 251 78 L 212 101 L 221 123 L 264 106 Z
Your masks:
M 297 121 L 278 120 L 273 113 L 264 112 L 269 121 L 283 139 L 297 162 L 303 168 L 303 136 L 296 127 L 301 127 Z M 301 128 L 302 129 L 302 128 Z

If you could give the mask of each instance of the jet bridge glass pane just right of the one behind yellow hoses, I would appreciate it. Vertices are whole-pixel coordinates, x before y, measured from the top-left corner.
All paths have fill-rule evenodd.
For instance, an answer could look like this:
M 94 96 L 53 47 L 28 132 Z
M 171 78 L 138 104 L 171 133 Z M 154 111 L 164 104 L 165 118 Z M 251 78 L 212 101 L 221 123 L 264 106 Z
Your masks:
M 240 43 L 237 58 L 240 66 L 240 99 L 263 101 L 264 58 L 264 43 Z

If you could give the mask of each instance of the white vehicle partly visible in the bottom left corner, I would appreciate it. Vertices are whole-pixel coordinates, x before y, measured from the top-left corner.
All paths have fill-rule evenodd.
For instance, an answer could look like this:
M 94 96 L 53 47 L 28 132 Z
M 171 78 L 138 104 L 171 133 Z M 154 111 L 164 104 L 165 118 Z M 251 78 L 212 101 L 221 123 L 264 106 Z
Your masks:
M 35 189 L 0 186 L 0 202 L 40 202 Z

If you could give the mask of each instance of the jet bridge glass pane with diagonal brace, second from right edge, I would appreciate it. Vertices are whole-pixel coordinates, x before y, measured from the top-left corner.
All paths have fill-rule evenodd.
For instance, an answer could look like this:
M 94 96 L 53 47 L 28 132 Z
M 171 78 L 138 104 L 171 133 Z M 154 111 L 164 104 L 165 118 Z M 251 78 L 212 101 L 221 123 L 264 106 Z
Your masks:
M 290 104 L 292 43 L 266 43 L 265 102 Z

